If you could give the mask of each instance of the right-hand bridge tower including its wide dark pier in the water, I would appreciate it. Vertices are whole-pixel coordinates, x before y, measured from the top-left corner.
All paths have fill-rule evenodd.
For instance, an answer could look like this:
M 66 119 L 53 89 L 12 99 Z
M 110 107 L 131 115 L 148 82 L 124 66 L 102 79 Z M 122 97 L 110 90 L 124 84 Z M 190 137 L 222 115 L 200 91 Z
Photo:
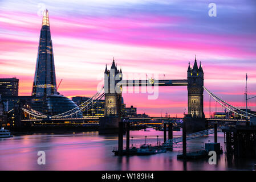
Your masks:
M 198 68 L 197 59 L 193 68 L 188 67 L 188 114 L 186 115 L 186 130 L 189 133 L 205 130 L 207 123 L 204 114 L 204 71 L 200 62 Z

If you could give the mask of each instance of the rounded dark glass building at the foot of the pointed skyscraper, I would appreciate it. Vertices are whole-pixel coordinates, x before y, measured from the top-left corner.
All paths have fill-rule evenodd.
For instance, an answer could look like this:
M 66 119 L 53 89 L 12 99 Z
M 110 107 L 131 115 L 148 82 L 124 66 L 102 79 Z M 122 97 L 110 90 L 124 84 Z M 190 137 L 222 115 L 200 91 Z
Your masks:
M 49 115 L 57 115 L 57 114 L 65 113 L 66 111 L 69 111 L 71 109 L 74 109 L 77 106 L 78 105 L 76 105 L 75 102 L 71 101 L 69 98 L 64 97 L 62 95 L 54 94 L 51 96 L 47 96 L 44 109 L 46 111 L 45 113 Z M 79 110 L 79 108 L 75 110 Z M 70 113 L 67 113 L 67 114 L 70 114 Z M 83 114 L 81 111 L 72 115 L 72 118 L 82 118 L 82 117 L 83 117 Z M 67 118 L 71 118 L 71 116 Z

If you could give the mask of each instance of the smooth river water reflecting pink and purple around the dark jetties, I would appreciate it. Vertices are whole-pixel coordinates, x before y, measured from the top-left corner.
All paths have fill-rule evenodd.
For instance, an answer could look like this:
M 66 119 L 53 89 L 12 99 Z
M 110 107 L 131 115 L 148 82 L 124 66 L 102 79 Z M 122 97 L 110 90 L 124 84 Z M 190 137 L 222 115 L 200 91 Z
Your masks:
M 155 144 L 157 135 L 163 142 L 163 131 L 131 131 L 133 144 Z M 180 137 L 182 131 L 174 131 Z M 214 141 L 213 135 L 188 140 L 188 145 L 199 148 Z M 218 133 L 218 142 L 224 149 L 223 133 Z M 130 141 L 131 144 L 131 141 Z M 125 135 L 124 135 L 125 145 Z M 117 135 L 98 135 L 97 131 L 75 134 L 33 134 L 0 139 L 0 170 L 252 170 L 256 160 L 227 160 L 218 156 L 217 165 L 210 165 L 208 159 L 183 162 L 174 151 L 150 156 L 114 156 L 111 152 L 117 146 Z M 198 147 L 197 147 L 198 148 Z M 46 165 L 37 164 L 37 152 L 46 152 Z M 194 149 L 195 150 L 195 149 Z

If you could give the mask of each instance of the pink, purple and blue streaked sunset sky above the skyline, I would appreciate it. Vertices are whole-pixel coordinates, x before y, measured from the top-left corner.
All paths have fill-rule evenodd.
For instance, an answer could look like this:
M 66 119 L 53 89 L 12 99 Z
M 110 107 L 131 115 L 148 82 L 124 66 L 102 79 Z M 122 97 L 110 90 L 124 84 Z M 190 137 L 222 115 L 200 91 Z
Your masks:
M 209 3 L 217 17 L 208 15 Z M 115 57 L 123 73 L 159 74 L 185 79 L 188 62 L 201 61 L 204 84 L 234 106 L 245 107 L 256 95 L 256 1 L 0 1 L 0 77 L 17 77 L 19 95 L 31 95 L 42 10 L 50 16 L 58 92 L 66 97 L 92 96 L 105 64 Z M 123 94 L 137 113 L 182 116 L 185 86 L 160 87 L 159 98 Z M 256 110 L 256 99 L 249 101 Z M 204 93 L 209 117 L 209 95 Z M 212 112 L 224 111 L 212 101 Z

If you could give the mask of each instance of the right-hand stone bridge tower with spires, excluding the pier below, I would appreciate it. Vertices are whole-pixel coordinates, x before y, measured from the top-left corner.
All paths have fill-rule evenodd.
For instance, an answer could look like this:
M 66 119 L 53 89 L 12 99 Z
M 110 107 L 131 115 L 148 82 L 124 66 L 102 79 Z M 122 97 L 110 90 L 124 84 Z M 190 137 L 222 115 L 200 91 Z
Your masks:
M 193 68 L 188 68 L 188 114 L 193 118 L 205 118 L 204 115 L 204 71 L 198 68 L 197 59 L 194 60 Z

